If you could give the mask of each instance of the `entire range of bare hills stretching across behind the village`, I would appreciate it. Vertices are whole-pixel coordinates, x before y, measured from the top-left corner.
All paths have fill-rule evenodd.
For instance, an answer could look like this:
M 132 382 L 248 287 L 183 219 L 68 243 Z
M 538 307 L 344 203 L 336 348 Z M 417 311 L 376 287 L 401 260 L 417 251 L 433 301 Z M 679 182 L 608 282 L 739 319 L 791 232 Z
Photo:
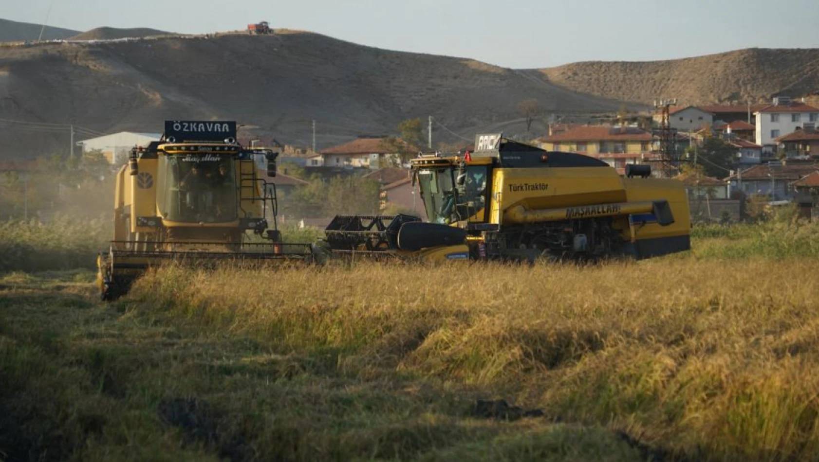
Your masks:
M 245 135 L 302 146 L 315 120 L 324 148 L 432 115 L 434 141 L 465 143 L 475 132 L 536 136 L 549 114 L 611 113 L 624 102 L 640 110 L 663 97 L 757 101 L 819 88 L 817 49 L 512 70 L 292 30 L 105 41 L 142 33 L 166 34 L 101 28 L 79 36 L 88 43 L 0 45 L 0 119 L 97 132 L 161 132 L 164 119 L 236 119 Z M 527 132 L 517 105 L 532 98 L 545 117 Z M 64 132 L 0 129 L 0 156 L 67 151 L 68 144 Z

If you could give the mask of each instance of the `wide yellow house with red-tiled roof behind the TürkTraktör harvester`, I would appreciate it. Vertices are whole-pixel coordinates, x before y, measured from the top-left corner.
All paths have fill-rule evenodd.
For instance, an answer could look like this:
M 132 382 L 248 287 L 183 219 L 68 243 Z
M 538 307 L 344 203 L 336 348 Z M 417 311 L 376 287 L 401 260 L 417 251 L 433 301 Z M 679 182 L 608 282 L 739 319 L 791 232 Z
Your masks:
M 642 164 L 652 153 L 652 136 L 642 128 L 581 125 L 537 140 L 542 149 L 588 155 L 625 171 L 626 164 Z

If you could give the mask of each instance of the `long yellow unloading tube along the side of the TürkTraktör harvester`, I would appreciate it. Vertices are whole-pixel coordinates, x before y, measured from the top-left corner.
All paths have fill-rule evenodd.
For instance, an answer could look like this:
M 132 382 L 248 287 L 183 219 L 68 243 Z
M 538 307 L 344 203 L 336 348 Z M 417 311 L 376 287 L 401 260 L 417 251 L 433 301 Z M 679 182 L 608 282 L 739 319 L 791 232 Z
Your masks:
M 613 217 L 637 213 L 654 213 L 657 223 L 663 227 L 667 227 L 674 222 L 671 206 L 667 200 L 618 202 L 560 209 L 527 209 L 526 205 L 518 204 L 506 210 L 504 221 L 512 223 L 558 222 L 578 218 Z

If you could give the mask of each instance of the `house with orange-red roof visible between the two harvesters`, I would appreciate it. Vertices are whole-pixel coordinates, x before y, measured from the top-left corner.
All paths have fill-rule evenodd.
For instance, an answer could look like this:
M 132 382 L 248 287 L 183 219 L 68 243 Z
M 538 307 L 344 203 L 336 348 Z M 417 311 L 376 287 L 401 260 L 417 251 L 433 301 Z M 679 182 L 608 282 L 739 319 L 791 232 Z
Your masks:
M 373 168 L 400 165 L 400 155 L 390 152 L 384 141 L 387 137 L 361 136 L 342 145 L 321 151 L 324 167 Z M 409 146 L 410 151 L 418 148 Z

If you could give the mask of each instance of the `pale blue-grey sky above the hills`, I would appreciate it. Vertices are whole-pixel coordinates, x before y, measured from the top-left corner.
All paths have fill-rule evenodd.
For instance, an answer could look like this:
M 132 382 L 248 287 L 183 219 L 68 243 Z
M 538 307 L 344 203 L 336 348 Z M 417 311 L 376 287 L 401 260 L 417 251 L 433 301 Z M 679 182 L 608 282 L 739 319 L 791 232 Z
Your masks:
M 355 43 L 516 68 L 819 47 L 816 0 L 0 0 L 0 17 L 188 34 L 269 20 Z

